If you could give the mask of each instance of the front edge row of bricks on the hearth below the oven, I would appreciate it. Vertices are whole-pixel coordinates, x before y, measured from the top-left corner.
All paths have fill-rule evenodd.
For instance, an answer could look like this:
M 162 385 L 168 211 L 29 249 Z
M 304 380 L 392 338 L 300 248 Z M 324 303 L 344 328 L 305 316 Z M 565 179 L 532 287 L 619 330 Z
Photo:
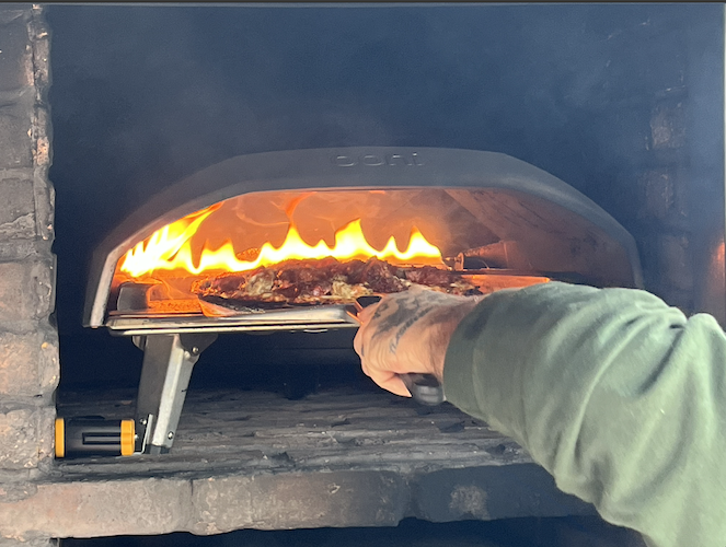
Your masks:
M 171 476 L 42 484 L 0 503 L 0 535 L 23 539 L 233 529 L 394 526 L 433 522 L 594 514 L 558 492 L 533 464 L 399 474 L 381 470 Z

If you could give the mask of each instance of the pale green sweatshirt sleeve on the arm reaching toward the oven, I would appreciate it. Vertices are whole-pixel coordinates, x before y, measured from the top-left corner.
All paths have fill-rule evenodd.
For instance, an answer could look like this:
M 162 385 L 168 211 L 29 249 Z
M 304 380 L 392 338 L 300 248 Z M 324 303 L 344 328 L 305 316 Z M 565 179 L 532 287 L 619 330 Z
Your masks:
M 457 328 L 448 400 L 658 547 L 726 546 L 726 336 L 634 289 L 545 283 Z

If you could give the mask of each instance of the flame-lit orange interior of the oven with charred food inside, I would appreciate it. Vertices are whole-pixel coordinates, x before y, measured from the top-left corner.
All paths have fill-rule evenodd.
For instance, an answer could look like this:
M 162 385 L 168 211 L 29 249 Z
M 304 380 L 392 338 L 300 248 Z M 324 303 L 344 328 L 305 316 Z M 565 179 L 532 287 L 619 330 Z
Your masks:
M 155 231 L 118 260 L 112 317 L 231 317 L 424 286 L 460 295 L 545 281 L 483 218 L 486 190 L 327 189 L 238 196 Z M 540 263 L 554 267 L 546 257 Z M 520 274 L 512 274 L 519 270 Z M 115 296 L 115 299 L 114 299 Z M 324 314 L 324 312 L 323 312 Z

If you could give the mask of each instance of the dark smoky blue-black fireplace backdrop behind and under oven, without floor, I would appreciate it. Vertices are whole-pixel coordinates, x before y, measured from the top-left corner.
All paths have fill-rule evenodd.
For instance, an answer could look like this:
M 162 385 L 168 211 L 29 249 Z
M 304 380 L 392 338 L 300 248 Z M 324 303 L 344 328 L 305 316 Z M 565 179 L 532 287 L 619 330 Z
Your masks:
M 620 222 L 645 289 L 726 322 L 718 4 L 49 4 L 46 18 L 60 403 L 139 383 L 131 341 L 82 325 L 93 249 L 159 191 L 256 152 L 510 155 Z M 376 393 L 354 334 L 220 336 L 189 393 Z

